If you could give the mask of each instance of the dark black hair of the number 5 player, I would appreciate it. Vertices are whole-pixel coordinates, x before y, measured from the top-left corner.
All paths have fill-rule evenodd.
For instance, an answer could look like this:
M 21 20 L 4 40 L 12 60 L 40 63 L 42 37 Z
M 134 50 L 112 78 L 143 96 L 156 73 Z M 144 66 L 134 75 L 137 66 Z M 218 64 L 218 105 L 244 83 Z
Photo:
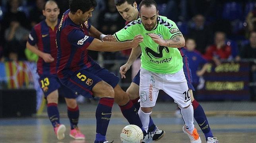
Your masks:
M 76 13 L 78 9 L 85 13 L 89 11 L 91 8 L 95 8 L 97 6 L 96 0 L 70 0 L 69 8 L 71 13 Z

